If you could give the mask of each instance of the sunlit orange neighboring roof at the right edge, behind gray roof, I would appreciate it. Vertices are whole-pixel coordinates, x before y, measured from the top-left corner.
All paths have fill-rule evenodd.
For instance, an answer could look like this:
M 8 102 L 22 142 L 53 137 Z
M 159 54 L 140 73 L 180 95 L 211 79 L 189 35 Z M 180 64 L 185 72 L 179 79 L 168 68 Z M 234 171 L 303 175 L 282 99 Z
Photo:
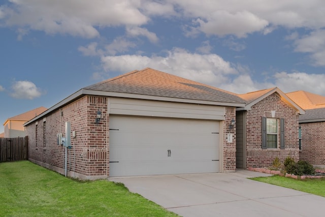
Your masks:
M 325 108 L 325 97 L 323 96 L 304 90 L 289 92 L 286 95 L 303 109 Z

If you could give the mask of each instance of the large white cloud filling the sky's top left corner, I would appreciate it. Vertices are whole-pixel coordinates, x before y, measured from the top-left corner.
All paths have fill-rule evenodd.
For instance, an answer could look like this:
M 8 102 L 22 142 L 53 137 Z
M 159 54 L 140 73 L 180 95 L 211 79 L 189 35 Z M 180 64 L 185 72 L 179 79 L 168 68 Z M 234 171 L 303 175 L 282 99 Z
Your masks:
M 98 37 L 95 28 L 116 25 L 142 25 L 149 18 L 140 12 L 141 1 L 12 1 L 0 15 L 7 26 L 42 30 L 47 34 Z M 0 17 L 0 18 L 1 18 Z

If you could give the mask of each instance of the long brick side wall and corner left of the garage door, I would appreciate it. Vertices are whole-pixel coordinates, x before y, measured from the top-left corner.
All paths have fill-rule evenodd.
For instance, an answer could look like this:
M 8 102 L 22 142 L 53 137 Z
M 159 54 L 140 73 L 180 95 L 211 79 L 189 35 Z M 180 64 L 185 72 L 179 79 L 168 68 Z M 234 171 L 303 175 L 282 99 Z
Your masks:
M 56 137 L 58 133 L 66 136 L 65 122 L 70 121 L 72 148 L 68 149 L 68 176 L 83 179 L 107 177 L 109 171 L 107 100 L 106 97 L 85 96 L 39 119 L 37 125 L 36 122 L 28 125 L 26 129 L 29 138 L 29 159 L 62 173 L 65 147 L 57 145 Z M 98 109 L 102 111 L 103 118 L 100 125 L 95 125 Z M 76 131 L 76 138 L 72 137 L 73 131 Z

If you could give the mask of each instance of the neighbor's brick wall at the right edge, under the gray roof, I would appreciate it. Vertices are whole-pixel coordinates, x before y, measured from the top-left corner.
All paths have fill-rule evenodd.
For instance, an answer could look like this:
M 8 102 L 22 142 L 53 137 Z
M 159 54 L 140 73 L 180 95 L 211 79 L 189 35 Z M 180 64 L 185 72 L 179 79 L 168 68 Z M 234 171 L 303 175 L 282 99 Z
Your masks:
M 300 123 L 300 160 L 313 165 L 325 166 L 325 122 Z

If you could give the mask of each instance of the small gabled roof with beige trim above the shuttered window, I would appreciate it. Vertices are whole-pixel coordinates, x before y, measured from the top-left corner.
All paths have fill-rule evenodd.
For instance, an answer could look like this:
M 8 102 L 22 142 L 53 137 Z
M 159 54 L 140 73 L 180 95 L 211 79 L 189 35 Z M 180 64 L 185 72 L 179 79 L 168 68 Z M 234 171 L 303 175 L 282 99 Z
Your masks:
M 301 108 L 298 104 L 296 104 L 293 100 L 288 98 L 284 92 L 282 92 L 278 87 L 273 87 L 269 89 L 263 89 L 258 90 L 254 92 L 248 92 L 247 94 L 238 94 L 239 97 L 241 97 L 243 100 L 245 100 L 246 105 L 243 108 L 238 108 L 237 110 L 250 110 L 253 105 L 258 103 L 259 101 L 267 98 L 271 94 L 276 93 L 281 100 L 286 102 L 289 106 L 294 108 L 297 113 L 299 114 L 305 114 L 305 111 L 303 108 Z

